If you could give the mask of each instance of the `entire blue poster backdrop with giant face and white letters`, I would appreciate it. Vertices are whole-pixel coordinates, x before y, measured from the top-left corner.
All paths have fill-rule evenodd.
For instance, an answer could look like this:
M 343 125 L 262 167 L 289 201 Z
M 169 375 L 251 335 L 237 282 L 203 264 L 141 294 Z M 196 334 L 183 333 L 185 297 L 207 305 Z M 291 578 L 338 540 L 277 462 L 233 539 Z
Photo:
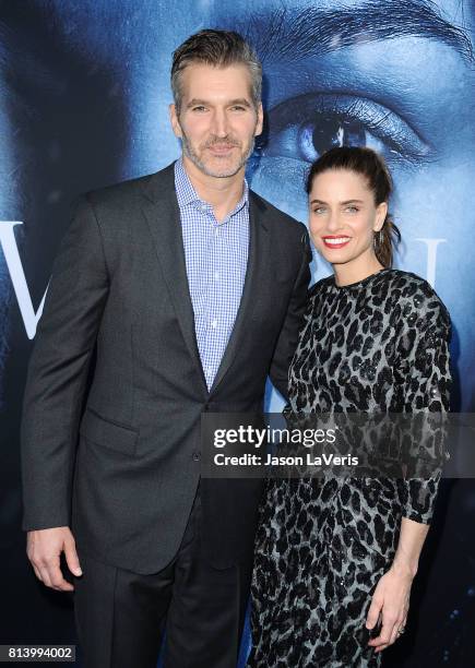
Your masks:
M 396 264 L 448 306 L 453 409 L 475 410 L 473 1 L 0 1 L 3 644 L 74 642 L 71 601 L 35 581 L 20 532 L 19 415 L 51 262 L 79 193 L 179 155 L 171 52 L 203 27 L 240 32 L 262 59 L 265 127 L 248 168 L 262 196 L 305 222 L 305 175 L 322 152 L 363 145 L 384 156 L 403 237 Z M 317 255 L 313 273 L 330 273 Z M 281 408 L 275 393 L 268 399 Z M 473 481 L 447 481 L 411 633 L 384 665 L 473 665 L 474 514 Z

